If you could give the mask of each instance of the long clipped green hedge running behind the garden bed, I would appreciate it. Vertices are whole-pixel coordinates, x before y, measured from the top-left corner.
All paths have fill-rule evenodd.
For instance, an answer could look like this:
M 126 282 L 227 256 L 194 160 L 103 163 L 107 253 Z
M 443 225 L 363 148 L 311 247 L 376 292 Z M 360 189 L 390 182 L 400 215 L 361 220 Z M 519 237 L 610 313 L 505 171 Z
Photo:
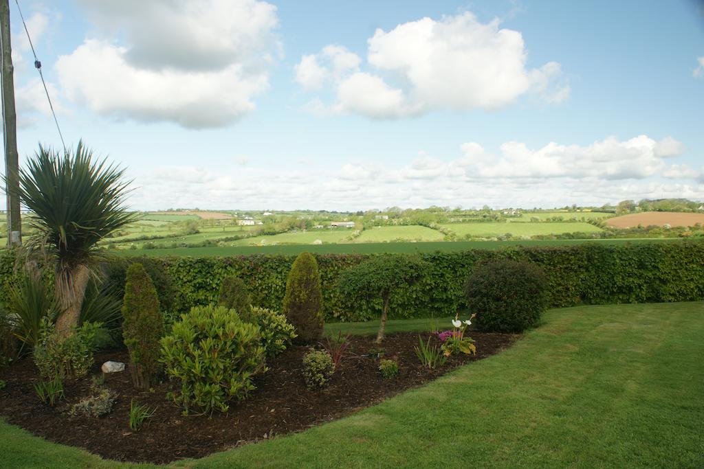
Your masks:
M 396 300 L 389 307 L 390 318 L 450 316 L 465 308 L 463 289 L 467 276 L 477 262 L 488 259 L 526 259 L 542 266 L 548 277 L 552 307 L 704 300 L 704 242 L 700 240 L 627 245 L 585 243 L 420 256 L 429 262 L 429 269 L 422 281 L 395 295 Z M 367 257 L 315 255 L 326 320 L 363 321 L 379 315 L 381 300 L 350 307 L 335 288 L 340 271 Z M 150 276 L 159 278 L 155 283 L 164 309 L 188 311 L 196 305 L 217 302 L 222 279 L 236 275 L 246 282 L 252 304 L 280 310 L 294 259 L 295 256 L 283 255 L 130 257 L 114 259 L 109 267 L 111 277 L 118 280 L 122 276 L 124 283 L 127 264 L 149 264 Z M 0 268 L 3 265 L 6 264 L 0 262 Z

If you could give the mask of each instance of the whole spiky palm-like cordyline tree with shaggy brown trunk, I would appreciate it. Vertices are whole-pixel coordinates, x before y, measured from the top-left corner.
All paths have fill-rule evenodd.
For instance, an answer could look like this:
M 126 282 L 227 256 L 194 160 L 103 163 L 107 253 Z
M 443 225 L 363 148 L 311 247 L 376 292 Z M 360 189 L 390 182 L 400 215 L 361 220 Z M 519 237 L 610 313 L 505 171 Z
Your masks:
M 131 181 L 124 174 L 106 160 L 94 161 L 82 142 L 63 155 L 40 145 L 20 169 L 20 200 L 34 213 L 35 233 L 27 248 L 55 266 L 56 330 L 63 335 L 78 324 L 89 277 L 101 257 L 98 242 L 135 219 L 125 210 Z

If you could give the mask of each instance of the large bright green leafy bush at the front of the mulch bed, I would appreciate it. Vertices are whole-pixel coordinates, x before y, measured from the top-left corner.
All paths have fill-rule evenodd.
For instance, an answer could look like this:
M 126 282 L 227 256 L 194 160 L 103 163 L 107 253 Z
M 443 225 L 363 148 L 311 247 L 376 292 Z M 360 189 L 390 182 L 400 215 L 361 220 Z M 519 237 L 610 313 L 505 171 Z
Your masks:
M 214 353 L 217 351 L 217 353 Z M 181 381 L 171 394 L 188 413 L 227 412 L 231 399 L 245 399 L 252 378 L 265 371 L 259 326 L 241 321 L 225 307 L 194 307 L 161 340 L 161 361 L 170 378 Z

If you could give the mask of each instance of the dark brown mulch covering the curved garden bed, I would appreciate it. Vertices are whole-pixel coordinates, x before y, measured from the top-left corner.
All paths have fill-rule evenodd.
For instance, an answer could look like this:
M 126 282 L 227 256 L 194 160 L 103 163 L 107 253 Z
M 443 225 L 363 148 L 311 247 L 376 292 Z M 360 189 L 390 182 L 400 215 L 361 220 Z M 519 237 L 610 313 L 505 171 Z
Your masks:
M 425 334 L 427 338 L 427 334 Z M 249 399 L 233 403 L 227 414 L 183 416 L 181 409 L 165 398 L 172 384 L 163 383 L 153 392 L 137 392 L 129 373 L 106 375 L 105 385 L 119 394 L 113 411 L 102 418 L 70 417 L 65 408 L 89 395 L 91 380 L 66 381 L 66 399 L 56 408 L 42 404 L 34 393 L 39 379 L 30 359 L 24 359 L 0 374 L 7 385 L 0 390 L 0 415 L 34 435 L 52 442 L 78 446 L 104 458 L 118 461 L 166 463 L 180 458 L 199 458 L 247 442 L 303 430 L 346 416 L 354 411 L 427 383 L 470 361 L 482 359 L 509 347 L 517 335 L 472 333 L 476 356 L 452 356 L 439 369 L 420 366 L 413 347 L 417 333 L 391 334 L 382 347 L 386 358 L 398 358 L 396 378 L 384 379 L 378 359 L 364 356 L 379 346 L 371 337 L 351 338 L 351 358 L 336 371 L 328 387 L 308 390 L 303 383 L 301 359 L 308 347 L 290 347 L 270 361 L 270 370 L 256 378 L 257 389 Z M 99 352 L 93 374 L 107 360 L 127 362 L 125 350 Z M 130 400 L 156 407 L 139 432 L 127 426 Z M 62 412 L 63 411 L 63 412 Z

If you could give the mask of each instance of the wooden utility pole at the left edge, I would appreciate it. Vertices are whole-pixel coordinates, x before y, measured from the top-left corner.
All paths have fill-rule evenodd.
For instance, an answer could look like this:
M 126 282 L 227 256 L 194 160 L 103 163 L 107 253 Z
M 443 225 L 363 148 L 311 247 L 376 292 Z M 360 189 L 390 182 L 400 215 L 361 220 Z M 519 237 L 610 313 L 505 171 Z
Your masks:
M 0 47 L 2 48 L 2 120 L 5 141 L 5 192 L 7 194 L 7 245 L 22 245 L 20 220 L 19 161 L 15 79 L 10 44 L 10 1 L 0 0 Z

